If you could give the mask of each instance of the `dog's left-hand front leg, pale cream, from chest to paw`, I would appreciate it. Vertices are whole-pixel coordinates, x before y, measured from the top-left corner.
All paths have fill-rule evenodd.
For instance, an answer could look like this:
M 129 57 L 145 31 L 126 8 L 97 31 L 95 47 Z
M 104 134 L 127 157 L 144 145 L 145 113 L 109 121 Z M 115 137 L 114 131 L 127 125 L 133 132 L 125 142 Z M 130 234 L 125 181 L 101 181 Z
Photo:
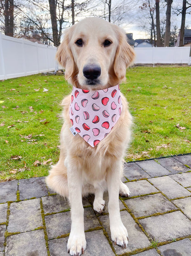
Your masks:
M 70 255 L 79 256 L 84 253 L 86 240 L 84 234 L 84 208 L 82 204 L 82 175 L 74 162 L 67 163 L 67 179 L 69 200 L 71 204 L 71 231 L 67 241 Z

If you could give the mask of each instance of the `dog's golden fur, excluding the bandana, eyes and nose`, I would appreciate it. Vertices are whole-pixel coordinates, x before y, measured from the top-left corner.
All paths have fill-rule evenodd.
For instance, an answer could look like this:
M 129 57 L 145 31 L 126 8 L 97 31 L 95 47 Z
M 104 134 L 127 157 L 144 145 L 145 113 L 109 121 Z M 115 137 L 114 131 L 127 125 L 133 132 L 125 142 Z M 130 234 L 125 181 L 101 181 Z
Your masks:
M 83 41 L 82 47 L 76 45 L 78 39 Z M 105 40 L 112 42 L 109 47 L 103 45 Z M 127 43 L 124 31 L 118 26 L 99 18 L 86 18 L 66 31 L 56 58 L 65 67 L 65 77 L 69 83 L 77 88 L 96 90 L 115 86 L 124 80 L 126 68 L 134 60 L 134 51 Z M 87 79 L 83 75 L 84 65 L 92 63 L 101 67 L 100 82 L 94 86 L 87 84 Z M 129 194 L 128 188 L 123 185 L 120 178 L 123 174 L 124 153 L 130 138 L 131 115 L 125 97 L 121 97 L 123 108 L 118 122 L 107 137 L 94 148 L 79 135 L 73 137 L 69 130 L 72 126 L 69 118 L 71 95 L 62 101 L 64 124 L 61 131 L 60 158 L 52 167 L 46 182 L 53 191 L 69 197 L 72 228 L 67 248 L 71 255 L 80 255 L 86 246 L 84 235 L 77 228 L 79 224 L 75 224 L 75 218 L 83 222 L 80 196 L 95 193 L 94 209 L 101 212 L 105 204 L 102 198 L 104 190 L 108 189 L 109 198 L 116 197 L 116 193 Z M 114 182 L 116 188 L 112 189 Z M 78 198 L 74 191 L 80 194 Z M 113 191 L 115 196 L 112 196 Z M 116 227 L 121 225 L 120 232 L 125 233 L 126 237 L 127 232 L 124 231 L 122 222 L 114 223 L 119 213 L 116 212 L 118 205 L 112 205 L 112 201 L 117 203 L 117 200 L 110 198 L 109 201 L 110 229 L 112 240 L 125 247 L 128 242 L 126 238 L 119 238 Z M 81 217 L 77 216 L 76 210 L 80 212 Z M 77 232 L 79 236 L 76 235 Z

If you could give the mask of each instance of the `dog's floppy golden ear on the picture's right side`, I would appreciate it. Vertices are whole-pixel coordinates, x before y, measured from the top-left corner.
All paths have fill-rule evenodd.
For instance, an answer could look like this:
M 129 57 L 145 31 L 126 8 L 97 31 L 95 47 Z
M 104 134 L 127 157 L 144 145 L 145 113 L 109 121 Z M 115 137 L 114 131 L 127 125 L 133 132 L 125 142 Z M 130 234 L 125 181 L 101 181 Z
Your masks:
M 135 52 L 127 42 L 127 36 L 124 31 L 117 27 L 116 33 L 118 35 L 118 48 L 114 60 L 114 72 L 119 80 L 123 80 L 126 75 L 126 68 L 135 59 Z

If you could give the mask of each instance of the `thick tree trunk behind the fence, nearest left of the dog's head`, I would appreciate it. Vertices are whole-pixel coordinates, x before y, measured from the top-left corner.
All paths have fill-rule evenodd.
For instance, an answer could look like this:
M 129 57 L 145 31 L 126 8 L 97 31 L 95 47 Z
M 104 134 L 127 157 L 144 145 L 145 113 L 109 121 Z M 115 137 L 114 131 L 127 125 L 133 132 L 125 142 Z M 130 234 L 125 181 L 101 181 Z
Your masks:
M 59 46 L 59 38 L 58 38 L 58 26 L 56 20 L 56 0 L 49 0 L 50 13 L 51 13 L 51 24 L 52 24 L 52 34 L 54 45 Z

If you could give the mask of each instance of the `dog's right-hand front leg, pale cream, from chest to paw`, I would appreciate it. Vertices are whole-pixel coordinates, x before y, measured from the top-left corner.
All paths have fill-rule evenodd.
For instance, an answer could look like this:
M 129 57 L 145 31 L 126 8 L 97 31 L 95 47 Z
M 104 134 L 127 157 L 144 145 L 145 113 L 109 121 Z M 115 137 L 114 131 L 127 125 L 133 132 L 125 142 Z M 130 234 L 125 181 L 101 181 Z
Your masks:
M 109 193 L 109 221 L 112 241 L 123 249 L 128 244 L 128 232 L 122 223 L 119 210 L 120 163 L 116 163 L 107 171 L 107 187 Z

